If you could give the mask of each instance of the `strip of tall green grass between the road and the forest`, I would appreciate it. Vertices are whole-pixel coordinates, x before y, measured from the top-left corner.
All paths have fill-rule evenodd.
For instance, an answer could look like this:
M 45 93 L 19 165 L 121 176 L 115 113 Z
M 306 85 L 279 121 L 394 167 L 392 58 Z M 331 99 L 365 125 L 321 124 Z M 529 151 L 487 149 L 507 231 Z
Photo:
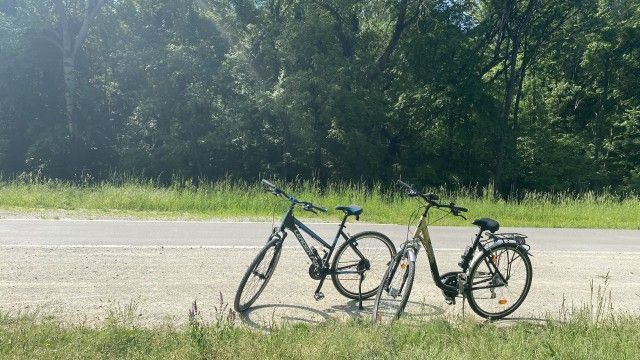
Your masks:
M 419 202 L 400 191 L 381 186 L 332 184 L 320 191 L 313 182 L 280 184 L 301 200 L 332 209 L 338 204 L 358 204 L 365 211 L 362 221 L 407 224 Z M 640 229 L 640 197 L 612 192 L 536 193 L 518 200 L 496 199 L 491 189 L 430 189 L 443 201 L 455 201 L 470 209 L 469 220 L 491 217 L 503 226 L 625 228 Z M 0 180 L 0 209 L 65 216 L 109 216 L 161 219 L 271 219 L 286 207 L 263 191 L 259 183 L 220 181 L 193 186 L 176 181 L 171 186 L 125 180 L 77 185 L 58 180 Z M 441 213 L 434 212 L 433 219 Z M 340 213 L 315 216 L 303 211 L 300 217 L 338 221 Z M 468 225 L 469 221 L 445 217 L 438 225 Z

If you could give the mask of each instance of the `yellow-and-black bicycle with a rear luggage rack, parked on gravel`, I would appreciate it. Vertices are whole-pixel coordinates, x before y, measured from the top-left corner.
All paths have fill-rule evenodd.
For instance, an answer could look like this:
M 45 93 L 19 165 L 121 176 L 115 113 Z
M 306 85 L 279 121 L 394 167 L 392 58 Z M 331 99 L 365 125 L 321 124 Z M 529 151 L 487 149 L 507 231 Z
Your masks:
M 438 203 L 438 196 L 421 194 L 413 186 L 398 181 L 407 194 L 425 202 L 424 211 L 411 239 L 400 247 L 389 264 L 376 294 L 373 306 L 373 321 L 385 322 L 397 319 L 404 311 L 413 279 L 415 262 L 421 245 L 427 253 L 431 275 L 436 286 L 442 290 L 445 301 L 455 304 L 456 297 L 466 297 L 471 309 L 487 319 L 500 319 L 514 312 L 524 301 L 531 287 L 532 269 L 529 245 L 526 236 L 517 233 L 496 234 L 500 228 L 497 221 L 482 218 L 475 220 L 480 227 L 471 246 L 467 246 L 458 263 L 461 271 L 440 275 L 433 252 L 427 223 L 432 208 L 460 216 L 467 209 L 454 203 Z

